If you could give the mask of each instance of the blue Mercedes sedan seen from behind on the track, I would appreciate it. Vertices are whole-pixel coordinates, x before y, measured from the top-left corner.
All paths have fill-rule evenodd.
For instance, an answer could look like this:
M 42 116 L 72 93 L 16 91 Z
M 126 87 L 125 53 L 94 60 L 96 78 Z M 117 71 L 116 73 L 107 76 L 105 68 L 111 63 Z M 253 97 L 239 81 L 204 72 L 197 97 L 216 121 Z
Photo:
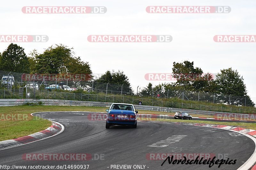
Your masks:
M 137 114 L 132 104 L 125 103 L 112 103 L 109 109 L 106 119 L 106 129 L 110 126 L 121 125 L 121 126 L 132 126 L 137 128 Z

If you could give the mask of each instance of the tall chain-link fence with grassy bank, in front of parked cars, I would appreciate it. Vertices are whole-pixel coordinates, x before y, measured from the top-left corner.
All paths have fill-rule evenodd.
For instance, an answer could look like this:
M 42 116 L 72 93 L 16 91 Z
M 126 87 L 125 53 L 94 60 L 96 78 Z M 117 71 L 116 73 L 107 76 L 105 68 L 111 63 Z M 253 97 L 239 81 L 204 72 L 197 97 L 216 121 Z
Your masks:
M 62 78 L 52 79 L 47 76 L 42 80 L 36 76 L 26 78 L 27 75 L 24 73 L 0 71 L 0 98 L 106 101 L 134 104 L 138 104 L 139 100 L 141 100 L 143 105 L 148 106 L 233 113 L 256 113 L 255 107 L 247 107 L 248 99 L 246 101 L 246 96 L 220 95 L 216 93 L 172 89 L 165 90 L 164 92 L 152 91 L 148 92 L 148 95 L 141 95 L 140 91 L 138 93 L 137 91 L 133 92 L 130 87 L 125 85 L 84 80 L 76 81 L 74 78 L 67 78 L 65 80 Z M 51 85 L 53 85 L 53 88 L 49 88 Z M 64 90 L 63 86 L 65 88 Z M 157 94 L 160 94 L 160 99 L 156 99 Z M 179 102 L 180 100 L 170 101 L 169 99 L 181 99 L 184 102 Z M 204 102 L 204 104 L 195 103 L 196 101 Z

